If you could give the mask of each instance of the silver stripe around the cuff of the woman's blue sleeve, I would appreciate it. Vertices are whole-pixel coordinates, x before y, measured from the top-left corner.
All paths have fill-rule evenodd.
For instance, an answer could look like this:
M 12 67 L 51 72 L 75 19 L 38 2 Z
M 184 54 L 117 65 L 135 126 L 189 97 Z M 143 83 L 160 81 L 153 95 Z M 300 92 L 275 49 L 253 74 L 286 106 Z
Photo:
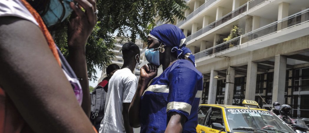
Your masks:
M 192 106 L 188 103 L 185 103 L 185 102 L 169 102 L 167 104 L 166 112 L 168 112 L 172 109 L 176 109 L 176 110 L 185 111 L 185 112 L 189 113 L 189 115 L 190 115 L 191 108 L 192 108 Z

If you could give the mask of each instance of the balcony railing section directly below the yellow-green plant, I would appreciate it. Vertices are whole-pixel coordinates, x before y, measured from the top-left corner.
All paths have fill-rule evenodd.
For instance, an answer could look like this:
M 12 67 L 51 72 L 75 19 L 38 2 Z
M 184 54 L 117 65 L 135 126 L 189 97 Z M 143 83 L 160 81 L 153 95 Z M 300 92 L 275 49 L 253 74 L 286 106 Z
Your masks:
M 205 57 L 205 56 L 208 56 L 208 55 L 212 55 L 212 54 L 215 54 L 215 53 L 218 53 L 218 52 L 225 51 L 225 50 L 230 49 L 232 47 L 238 46 L 239 44 L 240 44 L 240 36 L 233 38 L 233 39 L 231 39 L 227 42 L 223 42 L 221 44 L 218 44 L 215 47 L 211 47 L 211 48 L 208 48 L 204 51 L 196 53 L 194 55 L 195 60 L 200 59 L 200 58 Z

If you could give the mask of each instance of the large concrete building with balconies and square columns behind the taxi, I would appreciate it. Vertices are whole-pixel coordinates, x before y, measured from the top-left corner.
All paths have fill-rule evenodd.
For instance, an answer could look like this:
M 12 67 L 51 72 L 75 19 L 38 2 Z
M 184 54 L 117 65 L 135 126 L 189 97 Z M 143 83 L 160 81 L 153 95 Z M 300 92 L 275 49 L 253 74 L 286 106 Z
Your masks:
M 269 109 L 277 101 L 291 105 L 292 117 L 309 117 L 308 0 L 188 5 L 186 20 L 176 26 L 204 74 L 202 103 L 240 105 L 246 99 Z

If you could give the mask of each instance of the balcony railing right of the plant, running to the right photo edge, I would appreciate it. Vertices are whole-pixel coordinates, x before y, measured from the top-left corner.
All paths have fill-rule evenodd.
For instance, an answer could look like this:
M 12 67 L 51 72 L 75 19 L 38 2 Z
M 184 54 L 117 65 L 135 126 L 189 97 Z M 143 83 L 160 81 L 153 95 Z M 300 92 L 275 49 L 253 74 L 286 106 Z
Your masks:
M 271 24 L 265 25 L 259 29 L 242 35 L 241 43 L 249 42 L 257 38 L 264 37 L 266 35 L 276 33 L 282 29 L 287 29 L 309 20 L 309 9 L 300 11 L 293 15 L 290 15 L 282 20 L 275 21 Z

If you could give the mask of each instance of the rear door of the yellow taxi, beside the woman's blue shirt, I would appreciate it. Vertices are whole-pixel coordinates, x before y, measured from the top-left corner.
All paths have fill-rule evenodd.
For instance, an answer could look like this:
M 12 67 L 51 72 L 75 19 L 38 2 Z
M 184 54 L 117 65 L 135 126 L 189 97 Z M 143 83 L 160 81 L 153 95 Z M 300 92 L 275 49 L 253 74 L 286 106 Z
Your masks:
M 202 133 L 205 130 L 205 122 L 206 119 L 208 118 L 210 112 L 210 107 L 209 106 L 200 106 L 197 112 L 197 117 L 198 117 L 198 124 L 196 127 L 197 133 Z M 204 132 L 203 132 L 204 133 Z

